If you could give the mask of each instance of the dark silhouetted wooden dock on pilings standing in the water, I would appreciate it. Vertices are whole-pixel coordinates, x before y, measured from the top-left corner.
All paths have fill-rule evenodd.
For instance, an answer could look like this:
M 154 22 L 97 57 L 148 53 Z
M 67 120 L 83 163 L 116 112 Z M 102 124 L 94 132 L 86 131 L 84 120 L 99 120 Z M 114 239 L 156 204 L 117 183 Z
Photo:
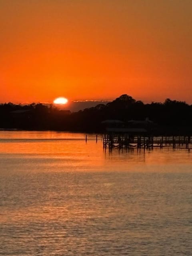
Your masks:
M 104 148 L 144 148 L 153 149 L 172 147 L 192 149 L 191 136 L 151 136 L 129 134 L 105 134 L 103 137 Z

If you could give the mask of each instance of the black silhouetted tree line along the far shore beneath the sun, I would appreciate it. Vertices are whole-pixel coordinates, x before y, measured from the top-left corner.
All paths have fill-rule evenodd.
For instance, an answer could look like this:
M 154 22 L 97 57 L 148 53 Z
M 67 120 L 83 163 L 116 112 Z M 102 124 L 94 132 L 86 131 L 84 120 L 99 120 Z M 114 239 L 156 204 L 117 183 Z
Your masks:
M 144 104 L 123 94 L 108 104 L 99 104 L 78 112 L 59 110 L 53 105 L 0 104 L 0 128 L 23 130 L 63 130 L 74 132 L 102 132 L 102 121 L 116 119 L 145 120 L 156 124 L 156 132 L 190 133 L 192 105 L 166 99 L 164 103 Z

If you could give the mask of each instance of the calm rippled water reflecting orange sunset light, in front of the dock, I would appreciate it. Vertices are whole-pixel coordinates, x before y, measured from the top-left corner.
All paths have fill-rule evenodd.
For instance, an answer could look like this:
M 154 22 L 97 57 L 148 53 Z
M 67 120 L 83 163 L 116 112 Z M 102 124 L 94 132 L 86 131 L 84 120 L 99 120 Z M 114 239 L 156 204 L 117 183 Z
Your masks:
M 192 150 L 1 131 L 0 255 L 192 255 Z

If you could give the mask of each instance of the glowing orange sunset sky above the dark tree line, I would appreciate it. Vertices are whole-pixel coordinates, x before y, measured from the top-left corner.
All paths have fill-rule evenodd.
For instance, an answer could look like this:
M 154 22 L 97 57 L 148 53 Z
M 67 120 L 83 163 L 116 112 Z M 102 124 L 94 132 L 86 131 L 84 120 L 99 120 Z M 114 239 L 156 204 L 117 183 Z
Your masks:
M 192 103 L 192 0 L 0 0 L 0 102 Z

